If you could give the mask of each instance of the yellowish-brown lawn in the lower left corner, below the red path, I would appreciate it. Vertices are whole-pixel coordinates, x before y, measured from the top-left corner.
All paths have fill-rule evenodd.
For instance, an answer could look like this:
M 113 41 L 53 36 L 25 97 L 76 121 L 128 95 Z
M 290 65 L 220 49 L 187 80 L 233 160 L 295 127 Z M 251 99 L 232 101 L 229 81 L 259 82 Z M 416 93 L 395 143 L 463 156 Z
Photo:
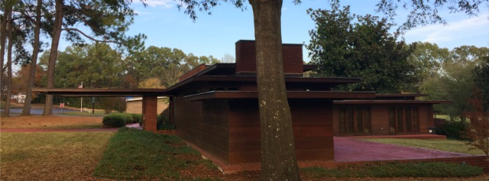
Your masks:
M 1 180 L 94 180 L 112 132 L 1 132 Z

